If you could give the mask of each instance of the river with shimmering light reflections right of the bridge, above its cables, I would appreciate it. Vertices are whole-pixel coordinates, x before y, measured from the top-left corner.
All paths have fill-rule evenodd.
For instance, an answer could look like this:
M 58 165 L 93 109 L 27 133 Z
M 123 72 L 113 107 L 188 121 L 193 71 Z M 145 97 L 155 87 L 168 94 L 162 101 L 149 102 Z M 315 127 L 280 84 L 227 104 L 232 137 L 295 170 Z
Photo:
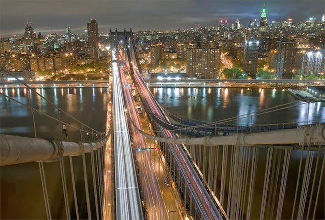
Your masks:
M 157 101 L 163 106 L 169 107 L 185 117 L 204 121 L 215 121 L 244 114 L 250 115 L 258 110 L 295 101 L 299 103 L 286 91 L 273 88 L 209 88 L 210 93 L 209 90 L 204 93 L 204 88 L 186 88 L 183 89 L 184 92 L 180 99 L 174 97 L 178 93 L 176 88 L 158 87 L 150 89 Z M 251 122 L 254 124 L 306 121 L 306 110 L 305 105 L 295 106 L 254 116 L 252 121 L 248 116 L 237 121 L 237 123 L 249 125 Z M 325 103 L 310 104 L 309 120 L 325 120 Z

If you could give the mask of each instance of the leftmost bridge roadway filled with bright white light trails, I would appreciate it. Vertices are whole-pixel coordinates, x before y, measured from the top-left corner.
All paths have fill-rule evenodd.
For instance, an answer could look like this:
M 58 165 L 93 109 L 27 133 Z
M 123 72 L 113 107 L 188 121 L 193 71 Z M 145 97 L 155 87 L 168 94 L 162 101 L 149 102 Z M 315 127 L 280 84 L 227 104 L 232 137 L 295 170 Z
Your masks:
M 112 49 L 112 59 L 116 60 Z M 112 62 L 116 219 L 144 219 L 117 61 Z

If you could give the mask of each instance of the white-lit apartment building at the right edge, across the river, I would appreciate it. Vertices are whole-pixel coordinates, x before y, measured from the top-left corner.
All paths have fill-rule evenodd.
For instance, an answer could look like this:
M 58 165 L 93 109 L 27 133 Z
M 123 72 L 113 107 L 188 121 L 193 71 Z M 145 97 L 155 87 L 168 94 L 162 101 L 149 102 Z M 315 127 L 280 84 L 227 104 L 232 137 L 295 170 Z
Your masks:
M 325 74 L 325 50 L 311 50 L 302 57 L 301 75 Z

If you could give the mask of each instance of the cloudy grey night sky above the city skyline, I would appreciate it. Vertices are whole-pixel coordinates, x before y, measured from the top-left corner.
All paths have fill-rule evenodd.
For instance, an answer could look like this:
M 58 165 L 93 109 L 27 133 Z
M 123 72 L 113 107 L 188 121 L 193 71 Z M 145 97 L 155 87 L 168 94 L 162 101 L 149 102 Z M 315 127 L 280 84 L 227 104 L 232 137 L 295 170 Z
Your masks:
M 293 18 L 294 22 L 309 17 L 321 19 L 324 0 L 1 0 L 0 34 L 23 34 L 26 21 L 31 21 L 37 33 L 72 32 L 86 29 L 86 23 L 96 18 L 100 32 L 109 28 L 158 30 L 192 28 L 195 23 L 213 26 L 220 20 L 231 24 L 236 18 L 245 26 L 259 17 L 266 4 L 269 21 Z

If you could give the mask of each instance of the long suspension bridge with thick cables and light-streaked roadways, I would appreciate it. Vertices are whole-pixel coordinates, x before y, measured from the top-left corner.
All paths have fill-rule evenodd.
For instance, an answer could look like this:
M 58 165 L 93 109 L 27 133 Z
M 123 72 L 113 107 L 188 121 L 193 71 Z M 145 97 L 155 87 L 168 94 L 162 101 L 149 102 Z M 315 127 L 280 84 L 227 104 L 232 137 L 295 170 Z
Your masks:
M 53 218 L 53 201 L 44 163 L 59 164 L 67 219 L 82 218 L 80 206 L 88 219 L 281 219 L 284 212 L 291 219 L 325 217 L 325 124 L 311 123 L 308 116 L 304 124 L 232 123 L 309 105 L 309 100 L 210 123 L 184 118 L 152 96 L 142 79 L 134 41 L 132 30 L 110 30 L 112 74 L 105 131 L 89 127 L 18 79 L 53 105 L 57 117 L 1 92 L 31 112 L 35 136 L 1 134 L 1 166 L 38 163 L 47 219 Z M 135 95 L 130 84 L 136 87 Z M 58 122 L 63 138 L 38 137 L 36 113 Z M 71 128 L 80 132 L 79 142 L 69 142 Z M 82 190 L 76 187 L 74 158 L 81 158 Z M 295 175 L 290 174 L 289 167 L 296 164 Z M 288 181 L 295 187 L 288 187 Z

